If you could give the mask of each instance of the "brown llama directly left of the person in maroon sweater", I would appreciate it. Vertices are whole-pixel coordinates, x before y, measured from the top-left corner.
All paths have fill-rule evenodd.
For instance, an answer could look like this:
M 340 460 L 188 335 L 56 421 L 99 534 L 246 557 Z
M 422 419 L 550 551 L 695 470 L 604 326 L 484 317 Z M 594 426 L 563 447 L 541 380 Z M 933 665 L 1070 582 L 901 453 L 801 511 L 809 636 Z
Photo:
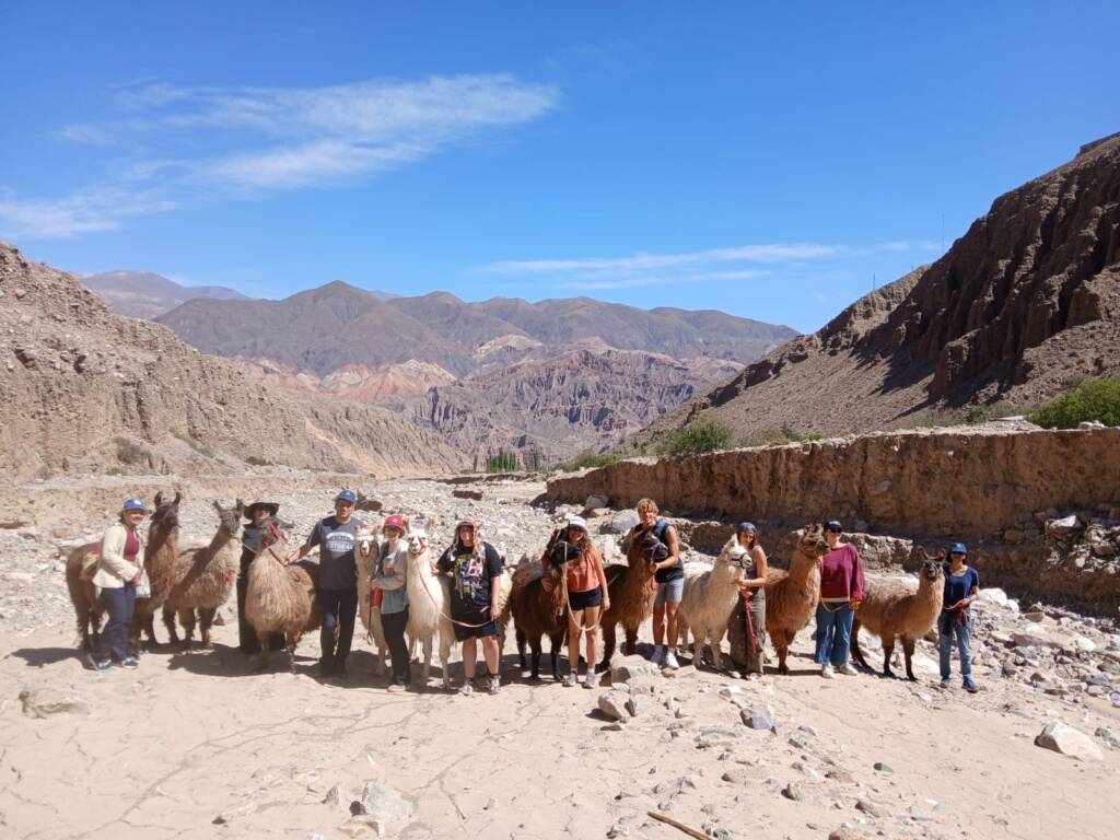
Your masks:
M 797 631 L 809 624 L 821 590 L 821 558 L 828 552 L 820 524 L 805 525 L 790 560 L 790 570 L 766 576 L 766 633 L 777 651 L 777 671 L 790 673 L 785 660 Z

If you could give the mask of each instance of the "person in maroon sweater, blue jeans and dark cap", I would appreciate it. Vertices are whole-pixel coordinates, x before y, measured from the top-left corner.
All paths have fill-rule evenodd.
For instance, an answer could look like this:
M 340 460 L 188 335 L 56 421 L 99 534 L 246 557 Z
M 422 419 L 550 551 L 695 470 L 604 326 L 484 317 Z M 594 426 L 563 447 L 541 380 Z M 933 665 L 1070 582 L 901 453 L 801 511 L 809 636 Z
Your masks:
M 850 662 L 851 624 L 864 599 L 864 561 L 856 547 L 842 542 L 843 528 L 837 520 L 824 523 L 829 553 L 821 558 L 821 597 L 816 605 L 816 664 L 821 676 L 832 679 L 859 673 Z

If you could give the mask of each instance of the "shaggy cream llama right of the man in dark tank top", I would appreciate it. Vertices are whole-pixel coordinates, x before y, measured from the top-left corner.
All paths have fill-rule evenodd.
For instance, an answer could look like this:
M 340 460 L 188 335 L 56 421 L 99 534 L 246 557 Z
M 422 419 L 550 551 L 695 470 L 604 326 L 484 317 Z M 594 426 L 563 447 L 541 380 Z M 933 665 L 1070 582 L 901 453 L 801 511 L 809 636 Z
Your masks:
M 711 660 L 717 671 L 724 670 L 719 643 L 739 595 L 738 582 L 749 564 L 745 548 L 732 536 L 724 545 L 711 569 L 685 573 L 684 595 L 676 613 L 676 629 L 682 640 L 692 631 L 692 650 L 697 662 L 703 654 L 704 641 L 711 642 Z

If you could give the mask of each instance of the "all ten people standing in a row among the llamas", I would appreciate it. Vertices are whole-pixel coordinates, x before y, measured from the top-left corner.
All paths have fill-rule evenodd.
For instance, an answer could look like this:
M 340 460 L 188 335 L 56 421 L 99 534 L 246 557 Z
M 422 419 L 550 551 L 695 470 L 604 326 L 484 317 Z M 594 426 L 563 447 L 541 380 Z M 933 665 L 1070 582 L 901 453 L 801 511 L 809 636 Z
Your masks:
M 410 659 L 404 631 L 408 625 L 408 550 L 404 536 L 407 522 L 399 514 L 391 514 L 382 523 L 384 540 L 362 544 L 360 534 L 364 523 L 354 516 L 356 494 L 344 489 L 334 500 L 333 515 L 315 523 L 297 552 L 305 557 L 319 548 L 319 605 L 323 625 L 319 636 L 323 676 L 346 675 L 346 660 L 351 652 L 358 607 L 357 552 L 373 557 L 370 579 L 371 598 L 380 607 L 385 640 L 392 660 L 390 690 L 402 691 L 411 682 Z M 274 502 L 254 502 L 245 508 L 249 523 L 242 534 L 243 552 L 241 576 L 237 580 L 237 616 L 240 647 L 246 654 L 259 653 L 259 642 L 244 616 L 249 566 L 262 545 L 283 539 L 276 516 L 279 505 Z M 659 516 L 653 500 L 643 498 L 636 505 L 638 523 L 629 531 L 627 541 L 652 535 L 662 547 L 653 554 L 653 643 L 652 662 L 665 668 L 678 668 L 676 613 L 684 589 L 684 568 L 680 556 L 676 529 Z M 93 577 L 109 620 L 94 652 L 94 668 L 99 671 L 112 666 L 134 669 L 138 662 L 127 646 L 127 633 L 132 620 L 138 587 L 144 586 L 142 540 L 139 526 L 147 507 L 138 498 L 127 500 L 120 520 L 106 529 L 101 543 L 97 569 Z M 568 650 L 570 670 L 566 685 L 578 682 L 577 665 L 581 643 L 586 645 L 586 661 L 597 662 L 597 633 L 603 615 L 610 609 L 610 594 L 604 571 L 603 557 L 588 533 L 587 522 L 569 516 L 564 532 L 564 562 L 562 573 L 568 595 Z M 820 597 L 816 606 L 816 635 L 814 661 L 821 675 L 831 679 L 837 673 L 858 673 L 849 662 L 851 629 L 866 591 L 864 563 L 856 547 L 843 540 L 843 526 L 837 520 L 824 524 L 829 550 L 819 560 L 821 572 Z M 557 533 L 553 533 L 552 543 Z M 757 529 L 749 522 L 736 526 L 736 539 L 749 558 L 738 584 L 738 608 L 747 616 L 758 640 L 766 626 L 766 590 L 768 566 L 766 552 L 757 540 Z M 551 543 L 550 543 L 551 545 Z M 548 559 L 545 552 L 544 560 Z M 950 550 L 950 567 L 945 572 L 944 609 L 937 620 L 941 688 L 951 681 L 951 652 L 955 641 L 961 662 L 963 685 L 977 691 L 971 670 L 972 610 L 980 591 L 980 576 L 969 566 L 968 549 L 956 543 Z M 463 521 L 456 525 L 455 539 L 440 554 L 436 571 L 451 578 L 449 612 L 456 640 L 463 645 L 465 680 L 460 691 L 469 694 L 474 682 L 482 645 L 488 679 L 486 690 L 497 693 L 498 679 L 498 618 L 500 578 L 503 571 L 501 553 L 483 540 L 478 524 Z M 545 581 L 545 586 L 551 586 Z M 282 635 L 270 640 L 273 650 L 283 647 Z M 763 672 L 762 644 L 754 645 L 747 655 L 748 674 Z M 595 669 L 589 664 L 585 684 L 596 685 Z

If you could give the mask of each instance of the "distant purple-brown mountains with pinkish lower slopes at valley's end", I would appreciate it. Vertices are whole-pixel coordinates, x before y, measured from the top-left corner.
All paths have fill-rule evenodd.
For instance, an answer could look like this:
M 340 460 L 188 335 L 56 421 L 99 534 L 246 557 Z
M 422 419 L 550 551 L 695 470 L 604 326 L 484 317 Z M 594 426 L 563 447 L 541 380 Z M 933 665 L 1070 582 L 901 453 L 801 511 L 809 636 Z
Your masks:
M 609 448 L 795 335 L 715 311 L 386 298 L 342 282 L 278 301 L 192 300 L 159 320 L 255 379 L 381 402 L 472 456 L 547 463 Z

